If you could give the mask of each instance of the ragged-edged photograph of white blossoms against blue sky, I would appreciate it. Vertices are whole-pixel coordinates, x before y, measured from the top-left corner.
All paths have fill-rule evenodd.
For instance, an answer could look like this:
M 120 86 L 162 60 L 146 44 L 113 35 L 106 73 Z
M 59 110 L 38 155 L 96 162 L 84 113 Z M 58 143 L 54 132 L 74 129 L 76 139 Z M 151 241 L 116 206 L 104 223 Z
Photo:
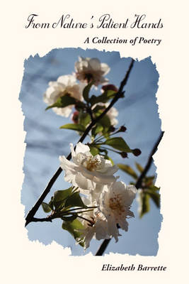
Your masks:
M 24 61 L 21 204 L 29 241 L 70 256 L 156 256 L 164 140 L 151 57 L 57 48 Z

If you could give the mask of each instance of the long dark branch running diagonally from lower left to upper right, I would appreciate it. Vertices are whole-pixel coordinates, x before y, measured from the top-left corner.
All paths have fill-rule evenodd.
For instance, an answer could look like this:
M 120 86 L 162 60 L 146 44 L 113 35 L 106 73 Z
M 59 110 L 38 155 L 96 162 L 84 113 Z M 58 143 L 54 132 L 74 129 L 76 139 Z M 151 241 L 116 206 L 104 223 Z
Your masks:
M 134 64 L 134 60 L 132 59 L 132 61 L 130 62 L 130 67 L 127 70 L 127 73 L 126 73 L 124 79 L 122 80 L 122 82 L 120 84 L 120 88 L 118 89 L 118 93 L 115 95 L 115 97 L 110 102 L 109 106 L 103 111 L 103 113 L 100 116 L 98 116 L 96 119 L 93 119 L 93 121 L 91 121 L 91 124 L 89 124 L 89 126 L 86 128 L 86 131 L 84 131 L 84 134 L 81 136 L 81 138 L 79 139 L 78 143 L 84 141 L 84 139 L 88 135 L 89 131 L 91 131 L 92 127 L 100 119 L 102 119 L 102 117 L 105 116 L 105 114 L 110 110 L 110 108 L 113 107 L 115 102 L 117 102 L 118 99 L 120 99 L 120 97 L 122 97 L 122 94 L 123 94 L 122 90 L 125 87 L 125 84 L 127 83 L 127 80 L 128 80 L 128 78 L 130 76 L 130 72 L 132 70 L 133 64 Z M 67 156 L 67 160 L 71 160 L 71 153 L 69 153 L 69 155 Z M 34 220 L 36 220 L 36 218 L 34 218 L 35 213 L 38 211 L 40 205 L 42 204 L 42 201 L 45 199 L 47 194 L 50 192 L 50 190 L 52 188 L 52 185 L 55 183 L 55 181 L 59 177 L 60 173 L 62 173 L 62 168 L 59 167 L 57 172 L 55 173 L 55 175 L 53 175 L 53 177 L 51 178 L 50 182 L 47 184 L 47 187 L 45 188 L 45 190 L 42 192 L 42 195 L 40 196 L 38 201 L 35 203 L 33 208 L 30 209 L 30 211 L 28 212 L 27 216 L 25 217 L 25 226 L 27 226 L 30 222 L 33 222 Z M 36 222 L 36 221 L 34 221 L 34 222 Z

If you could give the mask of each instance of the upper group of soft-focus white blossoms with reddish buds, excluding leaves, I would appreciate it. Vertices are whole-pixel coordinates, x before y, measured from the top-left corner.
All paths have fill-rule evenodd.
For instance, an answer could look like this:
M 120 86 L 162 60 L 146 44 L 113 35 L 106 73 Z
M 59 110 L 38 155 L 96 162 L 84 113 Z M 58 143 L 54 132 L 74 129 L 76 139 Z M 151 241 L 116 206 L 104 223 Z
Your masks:
M 66 94 L 76 99 L 76 102 L 82 102 L 84 100 L 84 87 L 89 82 L 93 82 L 96 88 L 101 84 L 101 92 L 105 92 L 108 88 L 113 91 L 117 90 L 113 84 L 108 84 L 108 78 L 105 78 L 105 75 L 110 71 L 110 67 L 98 60 L 98 58 L 79 57 L 74 67 L 75 72 L 72 75 L 62 75 L 57 78 L 57 81 L 49 82 L 49 87 L 47 87 L 43 97 L 44 102 L 48 106 L 52 106 L 57 102 L 57 99 L 64 97 Z M 108 103 L 100 103 L 99 105 L 103 106 L 104 109 L 108 107 Z M 69 117 L 73 107 L 74 104 L 69 104 L 66 107 L 53 107 L 53 111 L 60 116 Z M 74 114 L 71 114 L 71 119 L 75 124 L 77 123 L 78 115 L 79 111 L 74 111 Z M 116 119 L 116 116 L 118 116 L 117 109 L 112 107 L 107 115 L 112 126 L 118 124 Z

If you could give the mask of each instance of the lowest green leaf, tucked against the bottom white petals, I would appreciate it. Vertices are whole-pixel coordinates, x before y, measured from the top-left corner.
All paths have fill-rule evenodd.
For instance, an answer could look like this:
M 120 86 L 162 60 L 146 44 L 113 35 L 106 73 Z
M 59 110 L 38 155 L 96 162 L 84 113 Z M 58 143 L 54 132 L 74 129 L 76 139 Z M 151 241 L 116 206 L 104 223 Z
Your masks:
M 80 239 L 81 234 L 82 234 L 78 230 L 84 229 L 84 226 L 81 224 L 81 222 L 79 222 L 78 219 L 75 219 L 72 222 L 64 221 L 63 224 L 62 224 L 62 229 L 69 231 L 69 233 L 72 236 L 74 236 L 74 239 L 77 240 L 77 239 Z M 81 246 L 84 246 L 84 242 L 83 241 L 79 242 L 79 244 Z

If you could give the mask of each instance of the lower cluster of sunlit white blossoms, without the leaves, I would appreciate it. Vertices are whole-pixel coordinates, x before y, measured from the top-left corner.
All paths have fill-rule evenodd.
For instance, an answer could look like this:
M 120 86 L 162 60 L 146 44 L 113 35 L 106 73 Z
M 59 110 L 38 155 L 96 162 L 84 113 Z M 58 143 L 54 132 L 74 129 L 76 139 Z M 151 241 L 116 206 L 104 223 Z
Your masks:
M 64 180 L 78 188 L 84 204 L 94 209 L 79 214 L 83 229 L 76 241 L 84 242 L 88 248 L 92 238 L 97 240 L 120 236 L 118 228 L 127 231 L 127 218 L 134 217 L 130 207 L 137 189 L 134 185 L 125 185 L 118 181 L 115 173 L 118 170 L 110 160 L 102 155 L 92 155 L 90 148 L 83 143 L 71 146 L 69 161 L 64 155 L 59 157 L 64 170 Z

